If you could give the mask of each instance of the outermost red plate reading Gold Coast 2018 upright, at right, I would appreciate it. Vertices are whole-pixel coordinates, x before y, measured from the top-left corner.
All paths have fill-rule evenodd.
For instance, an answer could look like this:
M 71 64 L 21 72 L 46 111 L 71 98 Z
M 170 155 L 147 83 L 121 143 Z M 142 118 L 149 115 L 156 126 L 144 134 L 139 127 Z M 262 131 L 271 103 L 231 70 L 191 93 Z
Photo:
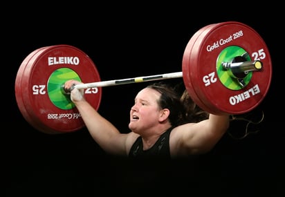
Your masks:
M 243 49 L 251 60 L 259 59 L 263 64 L 261 71 L 254 71 L 250 82 L 237 90 L 225 86 L 222 83 L 225 79 L 219 78 L 217 73 L 221 67 L 219 55 L 232 46 Z M 189 64 L 196 74 L 191 76 L 192 86 L 200 100 L 211 109 L 210 113 L 246 113 L 264 99 L 271 82 L 272 63 L 264 40 L 255 30 L 235 21 L 220 23 L 201 35 L 193 48 Z

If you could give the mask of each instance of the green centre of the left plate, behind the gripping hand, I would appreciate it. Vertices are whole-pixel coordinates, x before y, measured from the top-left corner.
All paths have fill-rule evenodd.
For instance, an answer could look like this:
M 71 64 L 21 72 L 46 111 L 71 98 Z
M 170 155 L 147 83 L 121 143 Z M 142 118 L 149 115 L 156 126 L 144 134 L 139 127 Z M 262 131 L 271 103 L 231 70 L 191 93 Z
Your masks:
M 59 109 L 72 109 L 75 106 L 70 95 L 62 92 L 62 86 L 69 79 L 81 82 L 80 77 L 71 68 L 59 68 L 48 79 L 48 97 Z

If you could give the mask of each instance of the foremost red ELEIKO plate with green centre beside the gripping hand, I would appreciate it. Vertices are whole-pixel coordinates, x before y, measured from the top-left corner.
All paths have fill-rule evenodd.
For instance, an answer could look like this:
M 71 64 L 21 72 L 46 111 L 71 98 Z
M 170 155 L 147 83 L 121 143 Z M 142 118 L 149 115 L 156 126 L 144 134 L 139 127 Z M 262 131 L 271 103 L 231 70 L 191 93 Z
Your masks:
M 68 45 L 49 46 L 30 58 L 21 76 L 21 100 L 30 124 L 44 133 L 68 133 L 84 127 L 84 122 L 62 91 L 64 82 L 77 79 L 99 82 L 100 75 L 88 55 Z M 98 109 L 102 88 L 84 90 L 86 100 Z M 26 115 L 27 116 L 27 115 Z

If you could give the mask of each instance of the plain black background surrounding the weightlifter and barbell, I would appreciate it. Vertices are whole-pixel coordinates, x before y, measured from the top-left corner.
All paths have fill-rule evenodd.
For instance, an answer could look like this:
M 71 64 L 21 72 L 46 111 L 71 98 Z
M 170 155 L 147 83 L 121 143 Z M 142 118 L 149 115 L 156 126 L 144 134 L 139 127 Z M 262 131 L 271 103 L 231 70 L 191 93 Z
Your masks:
M 2 17 L 5 72 L 1 88 L 1 163 L 6 196 L 284 193 L 284 68 L 279 57 L 284 41 L 276 26 L 281 20 L 278 12 L 269 16 L 266 7 L 250 4 L 232 7 L 228 3 L 58 6 L 49 2 L 42 6 L 28 3 L 17 6 L 21 9 L 7 7 L 10 12 Z M 80 48 L 93 59 L 103 81 L 172 73 L 181 71 L 183 52 L 192 35 L 208 24 L 224 21 L 239 21 L 259 32 L 270 51 L 273 78 L 268 94 L 250 113 L 251 118 L 257 118 L 264 111 L 264 121 L 251 129 L 258 132 L 241 140 L 226 133 L 205 156 L 172 162 L 110 157 L 86 129 L 48 135 L 28 124 L 18 109 L 17 70 L 37 48 L 57 44 Z M 127 132 L 129 109 L 144 86 L 103 88 L 100 113 Z M 244 133 L 244 122 L 232 125 L 230 131 Z

